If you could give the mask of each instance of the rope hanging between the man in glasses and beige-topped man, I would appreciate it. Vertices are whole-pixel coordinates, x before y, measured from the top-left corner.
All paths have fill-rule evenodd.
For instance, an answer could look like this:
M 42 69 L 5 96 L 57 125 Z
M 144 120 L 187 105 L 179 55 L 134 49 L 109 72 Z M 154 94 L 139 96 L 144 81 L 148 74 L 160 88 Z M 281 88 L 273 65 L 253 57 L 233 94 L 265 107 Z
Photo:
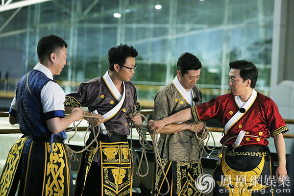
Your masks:
M 132 108 L 132 112 L 130 112 L 129 114 L 128 114 L 128 118 L 129 119 L 131 119 L 131 118 L 133 118 L 135 115 L 141 115 L 145 120 L 146 120 L 146 122 L 148 122 L 147 121 L 147 118 L 143 115 L 143 114 L 141 114 L 141 113 L 137 113 L 137 110 L 136 110 L 136 106 L 134 105 L 133 106 L 133 108 Z M 158 133 L 157 133 L 157 131 L 156 130 L 154 130 L 153 132 L 151 132 L 151 133 L 149 133 L 149 128 L 148 128 L 148 124 L 144 124 L 144 123 L 134 123 L 134 122 L 132 122 L 131 121 L 131 126 L 130 126 L 130 128 L 132 128 L 132 126 L 134 126 L 135 128 L 136 128 L 136 130 L 137 130 L 137 132 L 138 132 L 138 134 L 139 134 L 139 143 L 140 143 L 140 145 L 141 145 L 141 147 L 142 147 L 142 154 L 141 154 L 141 158 L 140 158 L 140 160 L 139 160 L 139 164 L 138 164 L 138 171 L 137 171 L 137 173 L 138 173 L 138 175 L 140 176 L 140 177 L 145 177 L 147 174 L 148 174 L 148 172 L 149 172 L 149 166 L 148 166 L 148 160 L 147 160 L 147 155 L 146 155 L 146 150 L 151 150 L 151 149 L 153 149 L 153 152 L 154 152 L 154 154 L 155 154 L 155 163 L 156 163 L 156 174 L 158 173 L 158 168 L 160 168 L 163 172 L 163 175 L 164 175 L 164 179 L 166 180 L 166 182 L 167 182 L 167 184 L 168 184 L 168 189 L 167 189 L 167 192 L 166 193 L 164 193 L 164 194 L 162 194 L 162 193 L 160 193 L 159 192 L 159 189 L 158 189 L 158 186 L 157 186 L 157 178 L 155 178 L 155 180 L 156 180 L 156 182 L 155 182 L 155 188 L 156 188 L 156 190 L 158 191 L 158 193 L 159 193 L 159 195 L 161 195 L 161 196 L 165 196 L 165 195 L 167 195 L 168 193 L 169 193 L 169 191 L 170 191 L 170 183 L 169 183 L 169 181 L 168 181 L 168 178 L 167 178 L 167 176 L 166 176 L 166 174 L 165 174 L 165 172 L 164 172 L 164 169 L 163 169 L 163 166 L 162 166 L 162 162 L 161 162 L 161 159 L 160 159 L 160 155 L 159 155 L 159 151 L 158 151 L 158 147 L 157 147 L 157 140 L 158 140 Z M 150 135 L 150 137 L 151 137 L 151 139 L 152 139 L 152 145 L 153 146 L 151 146 L 149 143 L 148 143 L 148 141 L 145 139 L 146 138 L 146 136 L 147 135 Z M 132 139 L 132 138 L 131 138 Z M 131 140 L 132 141 L 132 140 Z M 131 153 L 132 153 L 132 142 L 131 142 Z M 133 156 L 133 154 L 132 154 L 132 156 Z M 145 173 L 145 174 L 141 174 L 141 172 L 140 172 L 140 168 L 141 168 L 141 164 L 142 164 L 142 162 L 143 162 L 143 157 L 144 157 L 144 159 L 145 159 L 145 161 L 146 161 L 146 164 L 147 164 L 147 172 Z M 133 168 L 134 169 L 134 168 Z

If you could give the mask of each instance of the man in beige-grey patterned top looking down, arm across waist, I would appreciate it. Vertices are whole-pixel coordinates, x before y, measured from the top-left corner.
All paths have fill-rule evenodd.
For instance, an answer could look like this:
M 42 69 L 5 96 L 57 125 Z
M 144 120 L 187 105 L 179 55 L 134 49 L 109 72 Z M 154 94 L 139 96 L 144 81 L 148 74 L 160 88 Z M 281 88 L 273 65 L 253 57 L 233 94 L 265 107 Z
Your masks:
M 177 75 L 174 80 L 157 92 L 154 98 L 154 120 L 161 120 L 201 103 L 202 94 L 196 86 L 200 77 L 200 70 L 201 62 L 193 54 L 185 52 L 179 57 Z M 196 123 L 191 120 L 169 124 L 158 131 L 160 133 L 158 141 L 160 158 L 171 188 L 168 195 L 188 195 L 188 189 L 184 185 L 192 179 L 196 179 L 202 173 L 199 163 L 199 141 L 193 137 L 196 126 Z M 167 183 L 163 178 L 162 171 L 158 171 L 157 179 L 159 180 L 155 184 L 156 196 L 159 195 L 156 187 L 162 194 L 167 191 Z M 162 182 L 163 185 L 161 186 Z M 192 195 L 195 195 L 195 193 Z M 196 195 L 198 196 L 198 194 Z

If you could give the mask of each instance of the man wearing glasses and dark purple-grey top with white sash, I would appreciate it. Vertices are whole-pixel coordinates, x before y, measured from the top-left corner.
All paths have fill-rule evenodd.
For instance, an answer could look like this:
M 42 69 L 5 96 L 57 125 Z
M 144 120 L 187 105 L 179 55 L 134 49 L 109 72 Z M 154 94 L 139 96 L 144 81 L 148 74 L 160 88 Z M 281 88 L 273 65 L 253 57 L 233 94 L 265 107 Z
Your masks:
M 85 118 L 91 126 L 100 124 L 98 136 L 99 148 L 85 151 L 81 155 L 80 168 L 75 183 L 75 196 L 131 195 L 132 173 L 130 151 L 127 136 L 130 134 L 127 114 L 133 105 L 137 110 L 135 86 L 130 82 L 135 69 L 135 57 L 138 55 L 132 46 L 121 44 L 108 51 L 109 71 L 102 77 L 81 83 L 66 96 L 66 111 L 75 107 L 88 107 L 89 112 L 101 118 Z M 86 115 L 92 115 L 86 112 Z M 101 116 L 102 115 L 102 116 Z M 131 119 L 142 123 L 140 115 Z M 87 144 L 94 139 L 91 132 Z

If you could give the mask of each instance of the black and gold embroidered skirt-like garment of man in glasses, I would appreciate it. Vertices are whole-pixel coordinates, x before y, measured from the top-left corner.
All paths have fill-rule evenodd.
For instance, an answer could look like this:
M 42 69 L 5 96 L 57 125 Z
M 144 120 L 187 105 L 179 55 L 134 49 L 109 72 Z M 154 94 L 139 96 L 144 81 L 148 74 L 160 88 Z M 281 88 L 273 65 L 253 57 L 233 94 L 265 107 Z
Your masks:
M 101 176 L 97 176 L 100 183 L 95 189 L 97 195 L 103 196 L 130 196 L 132 190 L 131 156 L 126 136 L 122 135 L 99 135 L 98 149 L 91 146 L 90 150 L 81 155 L 81 163 L 76 177 L 75 195 L 81 196 L 88 193 L 88 179 L 93 179 L 91 167 L 99 167 Z M 120 141 L 121 140 L 121 141 Z M 124 140 L 124 141 L 123 141 Z M 96 155 L 96 153 L 99 153 Z M 93 166 L 94 158 L 99 157 L 100 166 Z M 98 188 L 102 187 L 102 188 Z M 93 187 L 89 187 L 91 190 Z

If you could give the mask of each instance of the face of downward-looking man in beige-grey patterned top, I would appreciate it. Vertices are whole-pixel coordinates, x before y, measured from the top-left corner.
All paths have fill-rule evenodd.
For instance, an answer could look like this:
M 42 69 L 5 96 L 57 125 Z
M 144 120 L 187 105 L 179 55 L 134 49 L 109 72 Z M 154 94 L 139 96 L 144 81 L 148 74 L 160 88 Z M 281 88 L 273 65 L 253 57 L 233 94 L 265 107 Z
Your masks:
M 195 86 L 200 77 L 200 70 L 201 69 L 189 70 L 188 73 L 185 73 L 184 75 L 180 73 L 180 71 L 177 71 L 179 82 L 186 91 L 189 91 L 189 89 L 192 89 Z

